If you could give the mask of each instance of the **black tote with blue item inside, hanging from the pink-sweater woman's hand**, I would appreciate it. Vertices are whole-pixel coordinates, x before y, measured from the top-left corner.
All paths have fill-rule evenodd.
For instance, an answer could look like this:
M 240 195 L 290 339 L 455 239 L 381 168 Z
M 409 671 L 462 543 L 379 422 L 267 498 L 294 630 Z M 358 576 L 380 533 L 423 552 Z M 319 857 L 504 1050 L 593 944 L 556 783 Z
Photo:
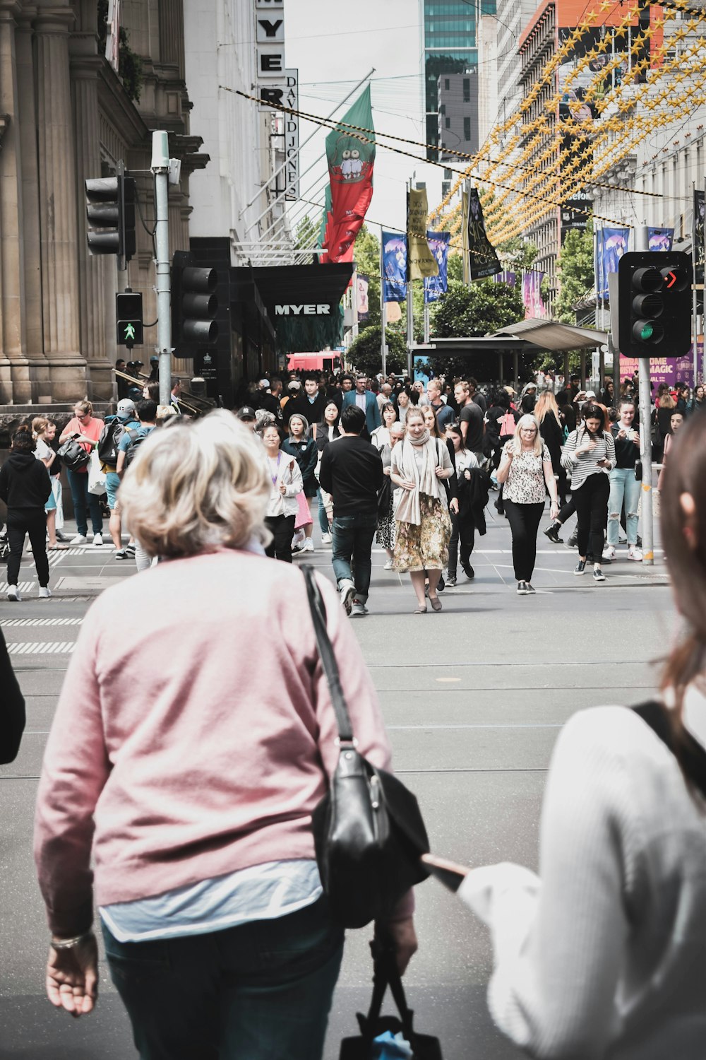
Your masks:
M 374 956 L 373 997 L 367 1015 L 357 1012 L 360 1026 L 357 1038 L 344 1038 L 341 1042 L 339 1060 L 373 1060 L 378 1056 L 375 1039 L 390 1031 L 392 1035 L 401 1032 L 412 1046 L 414 1060 L 443 1060 L 438 1038 L 431 1035 L 420 1035 L 414 1029 L 414 1012 L 408 1007 L 404 988 L 395 964 L 394 952 L 385 947 L 379 938 L 370 942 Z M 396 1015 L 380 1015 L 385 990 L 390 986 L 392 995 L 399 1012 Z M 374 1052 L 375 1050 L 375 1052 Z M 383 1053 L 382 1056 L 391 1054 Z M 394 1054 L 393 1054 L 394 1055 Z

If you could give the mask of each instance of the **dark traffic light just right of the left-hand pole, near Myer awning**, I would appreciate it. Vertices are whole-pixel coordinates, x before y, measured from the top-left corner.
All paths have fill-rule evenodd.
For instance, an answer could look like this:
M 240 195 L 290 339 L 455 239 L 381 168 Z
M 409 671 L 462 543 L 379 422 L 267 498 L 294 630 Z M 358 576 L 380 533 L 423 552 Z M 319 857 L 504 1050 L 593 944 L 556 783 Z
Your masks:
M 193 357 L 197 347 L 218 338 L 218 273 L 199 268 L 194 254 L 175 251 L 171 262 L 171 346 L 176 357 Z

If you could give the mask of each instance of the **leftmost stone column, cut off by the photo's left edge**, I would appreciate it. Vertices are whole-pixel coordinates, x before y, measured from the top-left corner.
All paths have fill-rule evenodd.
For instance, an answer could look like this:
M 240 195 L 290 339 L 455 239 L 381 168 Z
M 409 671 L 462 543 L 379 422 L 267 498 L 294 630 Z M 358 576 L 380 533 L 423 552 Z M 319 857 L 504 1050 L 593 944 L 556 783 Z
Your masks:
M 18 130 L 15 17 L 19 3 L 0 0 L 0 401 L 26 400 L 26 364 L 20 374 L 24 386 L 15 387 L 18 359 L 24 358 L 24 285 L 22 283 L 22 177 Z M 19 391 L 25 392 L 20 395 Z

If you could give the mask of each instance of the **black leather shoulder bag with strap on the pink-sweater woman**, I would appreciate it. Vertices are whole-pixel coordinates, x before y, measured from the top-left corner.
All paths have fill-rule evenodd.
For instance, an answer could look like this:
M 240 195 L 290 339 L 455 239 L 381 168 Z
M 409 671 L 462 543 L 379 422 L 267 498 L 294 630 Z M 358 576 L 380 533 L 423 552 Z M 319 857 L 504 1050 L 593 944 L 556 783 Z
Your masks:
M 357 749 L 324 602 L 310 566 L 304 576 L 339 730 L 338 764 L 311 816 L 316 862 L 333 919 L 344 928 L 363 928 L 385 920 L 402 895 L 428 878 L 420 858 L 429 840 L 412 792 Z

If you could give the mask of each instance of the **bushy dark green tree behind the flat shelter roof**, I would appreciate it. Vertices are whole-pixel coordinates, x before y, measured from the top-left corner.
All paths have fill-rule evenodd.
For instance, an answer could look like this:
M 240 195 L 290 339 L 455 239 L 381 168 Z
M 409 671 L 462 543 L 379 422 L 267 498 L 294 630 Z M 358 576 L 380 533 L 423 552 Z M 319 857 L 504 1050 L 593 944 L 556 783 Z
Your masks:
M 436 303 L 432 334 L 439 338 L 472 338 L 500 331 L 506 324 L 524 318 L 522 295 L 518 287 L 492 280 L 477 280 L 466 287 L 457 280 L 449 281 L 449 290 Z M 430 357 L 437 375 L 476 375 L 494 378 L 497 374 L 495 354 L 478 353 L 472 366 L 467 357 Z

